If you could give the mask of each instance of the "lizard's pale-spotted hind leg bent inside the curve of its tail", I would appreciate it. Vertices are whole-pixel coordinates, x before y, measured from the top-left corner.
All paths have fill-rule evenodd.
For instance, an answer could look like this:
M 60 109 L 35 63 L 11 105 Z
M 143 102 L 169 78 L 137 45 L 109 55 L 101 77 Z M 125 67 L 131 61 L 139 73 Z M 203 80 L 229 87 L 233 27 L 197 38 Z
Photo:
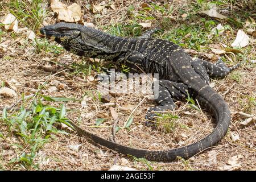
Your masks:
M 153 86 L 156 84 L 154 82 Z M 174 110 L 175 100 L 181 100 L 187 96 L 187 85 L 182 83 L 173 82 L 170 80 L 159 80 L 159 95 L 155 98 L 155 101 L 159 104 L 158 106 L 151 107 L 146 114 L 147 119 L 146 125 L 150 125 L 154 121 L 156 113 L 162 113 L 166 110 Z

